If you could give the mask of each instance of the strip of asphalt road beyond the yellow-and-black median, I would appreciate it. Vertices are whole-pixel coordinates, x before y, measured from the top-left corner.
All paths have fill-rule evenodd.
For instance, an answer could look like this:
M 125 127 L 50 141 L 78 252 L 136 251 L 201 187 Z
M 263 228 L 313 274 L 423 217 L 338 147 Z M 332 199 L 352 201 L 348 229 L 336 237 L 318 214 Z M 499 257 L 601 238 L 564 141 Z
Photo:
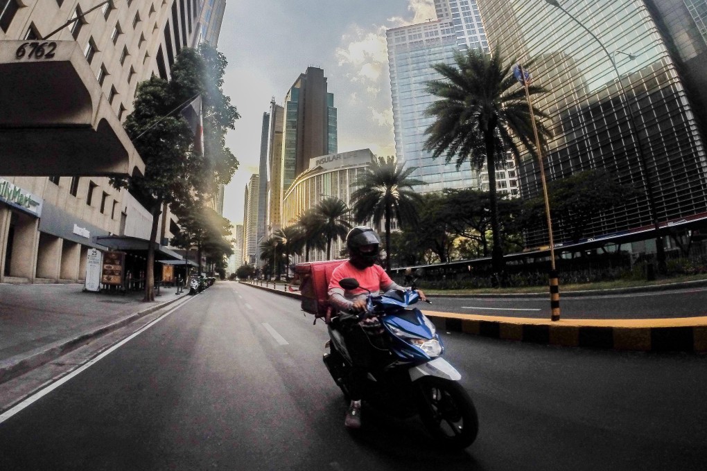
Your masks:
M 550 295 L 523 297 L 434 297 L 428 309 L 481 316 L 547 317 Z M 562 318 L 637 319 L 707 316 L 707 288 L 577 296 L 560 289 Z

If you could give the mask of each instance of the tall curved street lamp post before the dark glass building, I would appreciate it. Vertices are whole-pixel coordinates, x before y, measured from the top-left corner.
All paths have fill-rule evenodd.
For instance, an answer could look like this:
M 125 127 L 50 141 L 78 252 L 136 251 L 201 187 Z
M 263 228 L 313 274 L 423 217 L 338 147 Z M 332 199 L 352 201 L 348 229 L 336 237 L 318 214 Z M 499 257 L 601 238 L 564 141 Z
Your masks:
M 591 32 L 585 25 L 583 25 L 580 20 L 575 18 L 572 13 L 562 8 L 562 6 L 558 3 L 557 0 L 545 0 L 545 3 L 554 6 L 555 8 L 559 8 L 563 13 L 572 18 L 572 20 L 577 23 L 580 28 L 585 30 L 602 47 L 602 51 L 604 51 L 604 54 L 607 54 L 609 62 L 612 63 L 614 73 L 617 74 L 617 81 L 619 83 L 619 88 L 621 89 L 621 101 L 623 102 L 624 100 L 626 100 L 625 107 L 629 111 L 629 127 L 631 128 L 631 135 L 633 136 L 633 139 L 636 140 L 636 145 L 638 145 L 638 162 L 641 165 L 641 172 L 645 175 L 645 196 L 648 199 L 648 209 L 650 210 L 650 218 L 653 220 L 653 228 L 655 230 L 655 250 L 658 254 L 658 270 L 663 273 L 665 271 L 665 249 L 662 245 L 662 237 L 660 237 L 660 225 L 658 224 L 658 215 L 655 210 L 655 197 L 653 195 L 653 185 L 651 183 L 652 179 L 650 178 L 650 171 L 648 169 L 648 165 L 645 164 L 645 152 L 643 151 L 641 138 L 638 136 L 638 131 L 636 129 L 636 117 L 633 114 L 631 105 L 629 105 L 629 97 L 628 95 L 626 95 L 626 88 L 624 88 L 624 84 L 621 83 L 621 74 L 619 73 L 619 69 L 617 68 L 616 61 L 614 61 L 614 56 L 612 56 L 612 54 L 609 54 L 607 48 L 604 47 L 604 44 L 593 32 Z M 629 60 L 636 59 L 636 56 L 633 56 L 633 54 L 629 54 L 623 51 L 616 51 L 614 52 L 614 54 L 616 54 L 617 52 L 620 52 L 621 54 L 626 54 L 626 56 L 629 56 Z

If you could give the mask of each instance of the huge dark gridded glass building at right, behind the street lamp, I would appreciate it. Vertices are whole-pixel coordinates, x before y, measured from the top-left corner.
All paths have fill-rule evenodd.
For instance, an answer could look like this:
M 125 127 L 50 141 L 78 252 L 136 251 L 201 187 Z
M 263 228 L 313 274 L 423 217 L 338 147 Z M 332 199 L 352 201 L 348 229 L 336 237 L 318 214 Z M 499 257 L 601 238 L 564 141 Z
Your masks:
M 561 4 L 597 36 L 609 55 L 544 0 L 479 0 L 491 47 L 524 62 L 534 61 L 530 70 L 534 84 L 549 90 L 534 102 L 549 114 L 547 125 L 553 133 L 547 177 L 607 169 L 617 181 L 640 190 L 636 200 L 595 217 L 584 237 L 653 229 L 649 189 L 662 227 L 707 217 L 703 140 L 674 56 L 646 3 Z M 523 198 L 542 194 L 537 161 L 525 155 L 518 172 Z M 566 228 L 558 223 L 554 229 L 556 242 L 569 241 Z M 547 244 L 547 229 L 527 235 L 527 246 Z

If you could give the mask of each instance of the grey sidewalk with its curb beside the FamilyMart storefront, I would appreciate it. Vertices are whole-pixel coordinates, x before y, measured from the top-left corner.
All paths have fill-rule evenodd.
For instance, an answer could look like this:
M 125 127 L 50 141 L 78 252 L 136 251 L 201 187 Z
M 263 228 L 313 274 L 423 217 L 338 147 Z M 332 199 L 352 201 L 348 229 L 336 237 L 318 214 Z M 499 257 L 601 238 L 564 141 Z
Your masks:
M 0 284 L 0 383 L 161 309 L 186 294 L 83 292 L 83 285 Z

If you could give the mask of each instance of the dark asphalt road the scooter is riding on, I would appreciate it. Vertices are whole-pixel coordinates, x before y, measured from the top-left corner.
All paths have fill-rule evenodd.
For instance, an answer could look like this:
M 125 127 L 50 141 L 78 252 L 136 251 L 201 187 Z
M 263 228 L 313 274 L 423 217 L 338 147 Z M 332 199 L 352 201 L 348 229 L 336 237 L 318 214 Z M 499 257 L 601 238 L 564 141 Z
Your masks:
M 479 439 L 443 453 L 416 420 L 346 403 L 325 326 L 219 283 L 0 423 L 0 470 L 703 470 L 706 357 L 445 334 Z

